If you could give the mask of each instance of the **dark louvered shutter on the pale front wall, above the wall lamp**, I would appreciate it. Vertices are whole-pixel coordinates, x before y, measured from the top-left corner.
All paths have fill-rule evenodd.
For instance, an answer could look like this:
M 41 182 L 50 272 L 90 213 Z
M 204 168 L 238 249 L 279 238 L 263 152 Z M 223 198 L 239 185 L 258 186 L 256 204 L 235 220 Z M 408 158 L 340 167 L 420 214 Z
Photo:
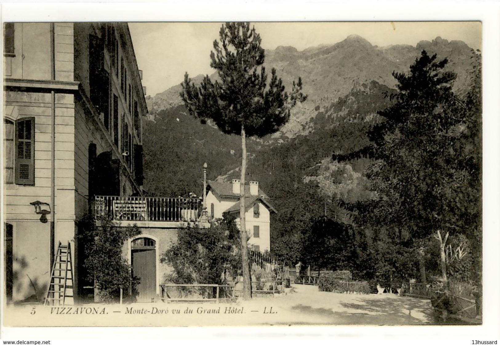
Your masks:
M 15 122 L 15 184 L 34 186 L 34 117 Z

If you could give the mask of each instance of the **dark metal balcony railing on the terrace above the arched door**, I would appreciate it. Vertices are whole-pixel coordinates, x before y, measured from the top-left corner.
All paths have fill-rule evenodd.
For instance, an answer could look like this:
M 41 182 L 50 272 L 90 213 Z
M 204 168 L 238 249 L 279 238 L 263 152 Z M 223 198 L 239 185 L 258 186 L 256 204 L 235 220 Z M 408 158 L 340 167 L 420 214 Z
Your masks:
M 111 220 L 195 222 L 202 206 L 198 198 L 95 196 L 95 216 Z

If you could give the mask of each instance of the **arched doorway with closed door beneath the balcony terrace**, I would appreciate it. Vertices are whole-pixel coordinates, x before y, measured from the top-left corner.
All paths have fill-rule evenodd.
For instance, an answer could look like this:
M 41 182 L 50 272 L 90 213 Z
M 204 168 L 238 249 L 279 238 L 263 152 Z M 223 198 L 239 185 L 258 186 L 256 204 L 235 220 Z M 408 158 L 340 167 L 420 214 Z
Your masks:
M 138 279 L 135 287 L 137 302 L 152 302 L 156 297 L 156 241 L 139 237 L 131 241 L 132 276 Z

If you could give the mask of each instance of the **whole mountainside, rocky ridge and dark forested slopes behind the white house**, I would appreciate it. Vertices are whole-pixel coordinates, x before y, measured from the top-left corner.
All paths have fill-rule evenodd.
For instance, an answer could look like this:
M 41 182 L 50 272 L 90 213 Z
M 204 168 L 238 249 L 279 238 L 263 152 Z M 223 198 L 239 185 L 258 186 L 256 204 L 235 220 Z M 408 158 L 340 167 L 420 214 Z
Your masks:
M 463 42 L 437 38 L 420 42 L 417 47 L 379 48 L 352 36 L 333 46 L 302 52 L 291 47 L 266 51 L 265 64 L 275 66 L 284 82 L 301 76 L 308 94 L 308 101 L 292 113 L 280 132 L 247 140 L 246 180 L 258 181 L 278 210 L 271 219 L 273 254 L 290 264 L 301 259 L 330 268 L 335 268 L 331 263 L 336 262 L 334 266 L 340 267 L 338 258 L 314 263 L 311 260 L 321 255 L 315 259 L 303 256 L 306 243 L 336 243 L 335 234 L 349 238 L 351 247 L 349 254 L 342 256 L 344 259 L 356 251 L 358 255 L 359 250 L 364 250 L 365 260 L 372 259 L 366 256 L 367 251 L 391 250 L 384 241 L 373 242 L 377 236 L 374 231 L 379 230 L 355 229 L 356 213 L 345 207 L 376 199 L 365 174 L 373 158 L 358 155 L 337 162 L 331 157 L 370 144 L 367 133 L 385 121 L 378 112 L 397 101 L 394 96 L 398 94 L 398 83 L 392 72 L 408 73 L 422 50 L 436 53 L 438 60 L 448 58 L 443 72 L 455 73 L 450 84 L 456 97 L 463 99 L 473 84 L 471 71 L 477 60 Z M 239 177 L 240 138 L 224 135 L 210 123 L 200 124 L 187 115 L 178 98 L 179 90 L 174 87 L 148 100 L 153 111 L 144 128 L 144 188 L 149 195 L 199 195 L 203 162 L 208 164 L 210 180 Z M 319 233 L 333 233 L 333 237 L 321 238 L 315 232 L 318 228 L 324 230 Z M 319 236 L 315 240 L 311 238 L 314 233 Z M 405 248 L 396 249 L 403 255 Z M 373 262 L 363 265 L 373 267 Z

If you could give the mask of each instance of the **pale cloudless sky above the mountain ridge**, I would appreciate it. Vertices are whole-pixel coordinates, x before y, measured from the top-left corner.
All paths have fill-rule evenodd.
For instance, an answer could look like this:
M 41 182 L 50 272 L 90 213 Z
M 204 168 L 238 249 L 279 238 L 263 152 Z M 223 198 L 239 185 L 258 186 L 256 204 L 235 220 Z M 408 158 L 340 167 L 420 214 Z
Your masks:
M 252 23 L 262 39 L 262 48 L 292 46 L 301 51 L 318 45 L 335 44 L 351 34 L 374 46 L 415 46 L 419 41 L 441 37 L 461 40 L 481 49 L 480 22 L 257 22 Z M 185 72 L 195 77 L 211 74 L 210 51 L 218 39 L 221 23 L 129 23 L 142 85 L 146 94 L 179 84 Z

